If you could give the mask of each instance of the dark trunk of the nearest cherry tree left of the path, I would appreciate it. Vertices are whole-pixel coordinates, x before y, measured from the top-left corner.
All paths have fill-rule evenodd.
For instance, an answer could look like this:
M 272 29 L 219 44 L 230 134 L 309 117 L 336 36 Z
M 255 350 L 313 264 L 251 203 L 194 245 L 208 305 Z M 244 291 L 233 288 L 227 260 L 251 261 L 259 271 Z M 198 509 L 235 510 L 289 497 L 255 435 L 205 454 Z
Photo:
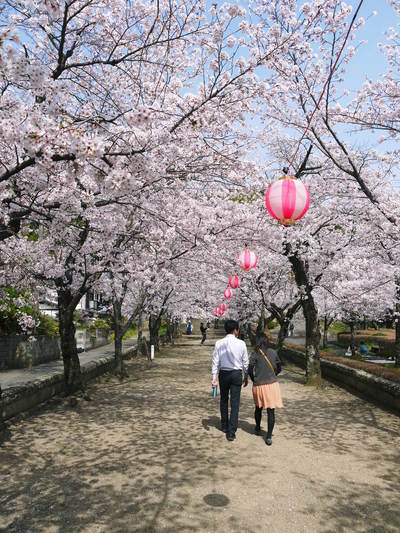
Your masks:
M 57 297 L 61 354 L 64 364 L 64 380 L 67 394 L 71 394 L 71 392 L 78 388 L 83 390 L 81 365 L 75 339 L 75 304 L 69 289 L 57 289 Z

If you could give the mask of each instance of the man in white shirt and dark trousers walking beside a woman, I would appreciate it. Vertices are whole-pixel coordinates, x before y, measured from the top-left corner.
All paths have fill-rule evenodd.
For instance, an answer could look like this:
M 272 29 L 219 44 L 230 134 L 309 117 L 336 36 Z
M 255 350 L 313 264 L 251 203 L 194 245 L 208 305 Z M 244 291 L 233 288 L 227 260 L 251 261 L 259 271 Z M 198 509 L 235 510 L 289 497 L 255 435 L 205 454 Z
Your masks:
M 236 438 L 238 427 L 240 392 L 242 383 L 247 386 L 249 359 L 246 344 L 237 338 L 239 324 L 236 320 L 225 322 L 226 337 L 215 343 L 211 372 L 213 388 L 220 388 L 221 429 L 227 434 L 227 439 Z M 231 413 L 228 415 L 228 400 L 230 396 Z

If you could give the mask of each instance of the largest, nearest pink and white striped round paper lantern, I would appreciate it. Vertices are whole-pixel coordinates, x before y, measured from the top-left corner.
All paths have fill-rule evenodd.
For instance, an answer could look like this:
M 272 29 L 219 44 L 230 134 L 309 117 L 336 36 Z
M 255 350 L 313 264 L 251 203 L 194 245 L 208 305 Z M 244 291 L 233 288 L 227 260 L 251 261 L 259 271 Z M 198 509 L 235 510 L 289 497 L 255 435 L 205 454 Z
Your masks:
M 310 193 L 300 180 L 283 176 L 272 183 L 265 195 L 268 213 L 283 226 L 292 226 L 302 218 L 310 205 Z

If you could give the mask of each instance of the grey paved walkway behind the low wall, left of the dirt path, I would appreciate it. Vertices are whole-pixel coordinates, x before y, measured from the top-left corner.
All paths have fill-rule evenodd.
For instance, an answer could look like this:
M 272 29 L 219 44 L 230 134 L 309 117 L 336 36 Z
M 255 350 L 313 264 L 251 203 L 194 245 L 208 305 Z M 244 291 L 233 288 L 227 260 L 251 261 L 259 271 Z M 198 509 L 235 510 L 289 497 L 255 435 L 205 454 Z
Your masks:
M 136 345 L 136 338 L 129 339 L 123 342 L 123 349 L 127 350 Z M 114 355 L 114 344 L 107 344 L 106 346 L 100 346 L 94 348 L 88 352 L 82 352 L 79 354 L 79 360 L 81 365 L 88 363 L 89 361 L 95 361 L 104 356 Z M 63 374 L 63 362 L 62 359 L 58 361 L 50 361 L 42 365 L 37 365 L 32 368 L 18 368 L 12 370 L 2 370 L 0 372 L 0 386 L 3 391 L 12 387 L 19 387 L 26 385 L 32 381 L 44 379 L 46 377 L 54 376 L 57 374 Z

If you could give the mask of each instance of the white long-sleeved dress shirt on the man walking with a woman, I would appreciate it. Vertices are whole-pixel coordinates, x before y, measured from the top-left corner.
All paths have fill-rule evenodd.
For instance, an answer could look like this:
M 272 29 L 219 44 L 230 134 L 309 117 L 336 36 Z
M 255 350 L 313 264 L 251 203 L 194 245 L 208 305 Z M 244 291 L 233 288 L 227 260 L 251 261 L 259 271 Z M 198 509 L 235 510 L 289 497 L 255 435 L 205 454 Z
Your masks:
M 212 378 L 216 379 L 220 370 L 243 370 L 245 377 L 249 368 L 249 357 L 244 341 L 229 334 L 215 343 L 212 359 Z

